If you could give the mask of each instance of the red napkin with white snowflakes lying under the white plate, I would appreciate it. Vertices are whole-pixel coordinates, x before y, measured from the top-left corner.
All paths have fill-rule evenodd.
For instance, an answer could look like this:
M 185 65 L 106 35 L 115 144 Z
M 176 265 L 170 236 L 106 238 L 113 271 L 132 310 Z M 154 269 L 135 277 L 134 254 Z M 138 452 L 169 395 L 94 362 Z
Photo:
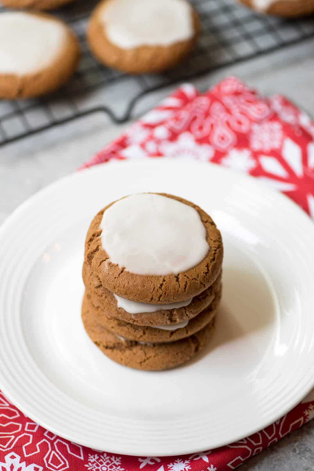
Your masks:
M 314 217 L 314 122 L 280 95 L 261 98 L 234 77 L 205 94 L 183 85 L 83 168 L 163 154 L 250 173 Z M 115 456 L 53 435 L 0 393 L 0 471 L 227 471 L 312 418 L 314 390 L 274 424 L 226 447 L 165 458 Z

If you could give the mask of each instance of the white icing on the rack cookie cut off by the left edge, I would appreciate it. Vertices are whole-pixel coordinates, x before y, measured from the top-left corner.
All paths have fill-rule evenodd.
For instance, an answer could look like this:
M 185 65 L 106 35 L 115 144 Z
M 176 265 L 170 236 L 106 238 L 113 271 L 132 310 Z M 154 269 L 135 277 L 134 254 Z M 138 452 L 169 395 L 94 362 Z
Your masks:
M 62 24 L 25 12 L 0 15 L 0 73 L 26 75 L 44 69 L 64 45 Z

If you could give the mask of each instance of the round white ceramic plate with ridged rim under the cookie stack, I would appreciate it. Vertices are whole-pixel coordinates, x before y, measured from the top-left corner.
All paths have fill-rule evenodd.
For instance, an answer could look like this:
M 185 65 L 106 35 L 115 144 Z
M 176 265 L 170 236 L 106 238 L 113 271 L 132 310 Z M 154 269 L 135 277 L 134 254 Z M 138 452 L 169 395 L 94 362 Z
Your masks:
M 199 204 L 225 245 L 213 340 L 157 373 L 109 360 L 80 317 L 89 222 L 142 191 Z M 175 455 L 241 439 L 313 386 L 313 241 L 312 221 L 288 198 L 208 163 L 115 162 L 61 179 L 0 230 L 0 388 L 57 435 L 113 453 Z

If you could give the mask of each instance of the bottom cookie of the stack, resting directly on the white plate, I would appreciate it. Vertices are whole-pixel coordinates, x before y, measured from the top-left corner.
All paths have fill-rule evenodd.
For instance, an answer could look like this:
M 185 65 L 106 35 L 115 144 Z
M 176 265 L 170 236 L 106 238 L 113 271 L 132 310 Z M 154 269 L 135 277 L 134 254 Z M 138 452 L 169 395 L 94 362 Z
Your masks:
M 86 311 L 82 321 L 89 338 L 113 361 L 138 370 L 161 371 L 182 365 L 201 351 L 213 333 L 215 318 L 186 339 L 149 344 L 119 338 L 87 316 Z

